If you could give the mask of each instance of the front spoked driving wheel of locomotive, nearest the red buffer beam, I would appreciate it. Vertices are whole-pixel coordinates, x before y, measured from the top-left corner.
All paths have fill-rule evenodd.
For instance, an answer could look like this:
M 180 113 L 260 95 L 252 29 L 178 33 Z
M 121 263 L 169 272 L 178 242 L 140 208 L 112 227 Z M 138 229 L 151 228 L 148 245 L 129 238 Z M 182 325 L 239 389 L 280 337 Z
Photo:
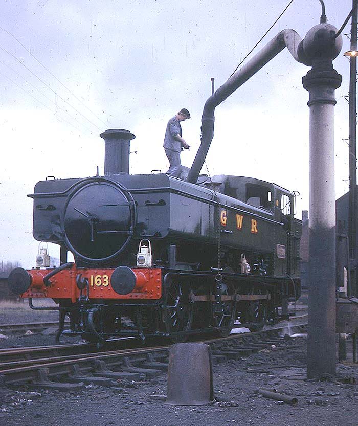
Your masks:
M 166 289 L 163 310 L 162 324 L 168 334 L 191 330 L 193 322 L 193 304 L 189 300 L 190 288 L 186 288 L 181 283 L 171 283 Z M 162 327 L 161 327 L 162 328 Z M 173 343 L 182 343 L 187 340 L 185 334 L 170 336 Z

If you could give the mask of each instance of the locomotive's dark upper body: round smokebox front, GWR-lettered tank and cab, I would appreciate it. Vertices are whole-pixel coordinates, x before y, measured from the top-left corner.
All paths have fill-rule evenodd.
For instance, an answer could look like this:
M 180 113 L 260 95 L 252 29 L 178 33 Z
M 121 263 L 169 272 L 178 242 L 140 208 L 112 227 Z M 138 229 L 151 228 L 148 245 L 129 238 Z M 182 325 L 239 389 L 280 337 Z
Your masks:
M 222 178 L 223 193 L 164 173 L 41 181 L 30 195 L 33 235 L 64 244 L 85 262 L 108 263 L 131 240 L 216 245 L 219 233 L 228 249 L 274 253 L 275 275 L 288 272 L 290 260 L 295 275 L 300 223 L 292 194 L 253 178 Z

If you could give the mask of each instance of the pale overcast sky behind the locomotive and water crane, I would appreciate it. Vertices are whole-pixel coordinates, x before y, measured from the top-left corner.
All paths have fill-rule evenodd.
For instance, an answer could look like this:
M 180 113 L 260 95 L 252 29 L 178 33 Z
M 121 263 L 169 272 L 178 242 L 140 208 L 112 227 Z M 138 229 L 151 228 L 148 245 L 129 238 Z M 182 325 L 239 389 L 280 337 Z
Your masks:
M 200 143 L 206 99 L 270 28 L 289 0 L 14 0 L 0 17 L 1 260 L 34 266 L 34 185 L 46 176 L 103 174 L 99 134 L 124 128 L 132 141 L 130 172 L 166 171 L 166 123 L 180 108 L 191 120 L 182 154 L 190 166 Z M 326 0 L 328 23 L 340 28 L 348 0 Z M 261 41 L 257 53 L 285 28 L 303 38 L 319 24 L 318 0 L 295 0 Z M 344 33 L 350 32 L 350 22 Z M 348 191 L 349 61 L 333 62 L 343 76 L 336 91 L 336 197 Z M 254 54 L 253 53 L 253 54 Z M 253 54 L 250 56 L 252 57 Z M 250 58 L 249 58 L 250 59 Z M 309 68 L 285 49 L 216 108 L 207 164 L 211 175 L 258 177 L 300 192 L 308 210 L 309 109 L 301 78 Z M 204 170 L 203 170 L 204 172 Z M 53 256 L 58 251 L 51 249 Z

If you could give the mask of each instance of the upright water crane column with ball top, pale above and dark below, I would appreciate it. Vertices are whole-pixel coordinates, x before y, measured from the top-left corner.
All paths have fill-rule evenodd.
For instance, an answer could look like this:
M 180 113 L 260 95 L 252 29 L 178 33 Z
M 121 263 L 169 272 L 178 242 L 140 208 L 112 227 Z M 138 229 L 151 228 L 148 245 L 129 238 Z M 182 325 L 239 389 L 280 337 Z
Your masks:
M 342 76 L 332 60 L 342 39 L 329 24 L 317 25 L 303 40 L 312 69 L 303 77 L 309 92 L 309 293 L 307 377 L 335 374 L 335 197 L 333 107 Z

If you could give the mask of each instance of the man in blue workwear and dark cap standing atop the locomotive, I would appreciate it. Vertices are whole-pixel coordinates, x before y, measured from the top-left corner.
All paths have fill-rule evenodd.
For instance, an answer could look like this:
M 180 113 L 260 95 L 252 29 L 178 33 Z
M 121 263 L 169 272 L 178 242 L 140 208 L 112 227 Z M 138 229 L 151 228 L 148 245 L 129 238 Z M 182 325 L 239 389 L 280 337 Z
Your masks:
M 165 131 L 163 147 L 170 165 L 166 174 L 174 177 L 179 177 L 182 171 L 182 164 L 180 162 L 181 151 L 183 151 L 183 148 L 190 148 L 190 146 L 182 138 L 182 126 L 180 125 L 181 121 L 185 121 L 188 118 L 190 118 L 189 111 L 186 108 L 182 108 L 168 121 L 167 129 Z

